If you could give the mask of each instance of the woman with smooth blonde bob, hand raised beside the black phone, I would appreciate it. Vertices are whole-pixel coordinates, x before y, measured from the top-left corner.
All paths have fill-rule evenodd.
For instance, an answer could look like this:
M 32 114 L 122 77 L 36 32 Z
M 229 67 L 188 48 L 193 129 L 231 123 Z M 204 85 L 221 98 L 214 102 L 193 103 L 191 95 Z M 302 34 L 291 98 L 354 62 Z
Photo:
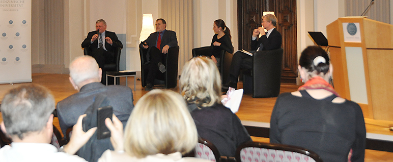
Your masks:
M 153 90 L 139 99 L 127 122 L 124 142 L 123 126 L 115 115 L 113 123 L 107 118 L 105 124 L 115 151 L 106 150 L 99 162 L 208 161 L 182 158 L 195 148 L 198 134 L 183 98 L 173 91 Z

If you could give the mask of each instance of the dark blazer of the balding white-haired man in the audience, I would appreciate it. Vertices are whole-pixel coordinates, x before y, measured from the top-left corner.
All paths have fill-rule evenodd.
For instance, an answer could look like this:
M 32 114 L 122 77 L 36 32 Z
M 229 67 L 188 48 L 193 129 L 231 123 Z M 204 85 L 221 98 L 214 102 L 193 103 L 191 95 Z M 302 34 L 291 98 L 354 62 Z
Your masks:
M 116 116 L 130 115 L 134 108 L 134 99 L 129 87 L 119 85 L 104 86 L 99 82 L 87 84 L 78 93 L 67 97 L 57 104 L 59 124 L 63 134 L 66 133 L 67 128 L 76 124 L 80 115 L 85 114 L 86 109 L 93 104 L 97 94 L 108 96 Z

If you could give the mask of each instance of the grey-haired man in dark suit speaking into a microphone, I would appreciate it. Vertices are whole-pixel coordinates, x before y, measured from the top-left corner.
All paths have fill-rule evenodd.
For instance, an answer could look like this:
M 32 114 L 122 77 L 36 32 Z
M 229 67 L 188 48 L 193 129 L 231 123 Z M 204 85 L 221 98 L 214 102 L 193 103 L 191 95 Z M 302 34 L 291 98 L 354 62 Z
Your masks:
M 96 30 L 90 31 L 82 42 L 82 48 L 89 46 L 92 49 L 91 56 L 96 59 L 100 68 L 103 68 L 104 64 L 115 62 L 116 48 L 123 48 L 116 33 L 106 30 L 106 22 L 102 19 L 96 21 Z M 102 83 L 105 84 L 103 80 Z

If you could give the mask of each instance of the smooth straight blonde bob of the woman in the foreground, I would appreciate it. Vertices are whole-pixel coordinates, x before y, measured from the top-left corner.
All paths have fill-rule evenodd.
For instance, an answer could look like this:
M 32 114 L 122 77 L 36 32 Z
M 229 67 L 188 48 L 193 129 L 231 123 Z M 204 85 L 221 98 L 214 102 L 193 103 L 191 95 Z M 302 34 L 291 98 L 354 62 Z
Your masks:
M 124 150 L 143 158 L 157 153 L 182 154 L 195 148 L 198 133 L 180 94 L 153 90 L 135 104 L 125 128 Z

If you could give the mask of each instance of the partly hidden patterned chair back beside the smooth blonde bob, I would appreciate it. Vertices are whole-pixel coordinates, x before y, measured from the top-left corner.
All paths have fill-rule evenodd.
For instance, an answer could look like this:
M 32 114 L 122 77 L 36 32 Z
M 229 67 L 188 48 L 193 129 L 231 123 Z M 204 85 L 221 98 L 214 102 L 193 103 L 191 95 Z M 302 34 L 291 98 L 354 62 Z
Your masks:
M 211 161 L 220 161 L 220 153 L 213 143 L 201 138 L 195 146 L 195 157 Z

